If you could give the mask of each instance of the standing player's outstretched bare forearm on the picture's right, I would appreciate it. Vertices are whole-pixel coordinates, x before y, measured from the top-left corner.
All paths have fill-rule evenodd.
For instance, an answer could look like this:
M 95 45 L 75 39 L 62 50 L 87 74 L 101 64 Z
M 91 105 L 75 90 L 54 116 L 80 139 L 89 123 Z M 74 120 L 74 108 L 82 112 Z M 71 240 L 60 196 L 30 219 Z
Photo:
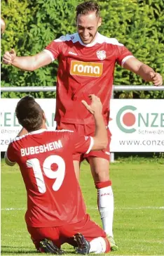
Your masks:
M 146 82 L 152 82 L 156 87 L 163 85 L 163 77 L 155 72 L 153 68 L 149 67 L 137 60 L 137 58 L 129 58 L 125 61 L 123 68 L 135 72 L 135 74 L 139 75 Z

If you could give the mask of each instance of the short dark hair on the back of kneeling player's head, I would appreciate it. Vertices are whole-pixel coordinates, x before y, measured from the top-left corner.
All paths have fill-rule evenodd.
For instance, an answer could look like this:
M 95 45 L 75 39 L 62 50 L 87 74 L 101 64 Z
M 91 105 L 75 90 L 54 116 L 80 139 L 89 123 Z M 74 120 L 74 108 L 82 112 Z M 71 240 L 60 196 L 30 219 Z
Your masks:
M 40 129 L 43 124 L 43 110 L 30 95 L 21 98 L 15 108 L 15 115 L 28 132 Z

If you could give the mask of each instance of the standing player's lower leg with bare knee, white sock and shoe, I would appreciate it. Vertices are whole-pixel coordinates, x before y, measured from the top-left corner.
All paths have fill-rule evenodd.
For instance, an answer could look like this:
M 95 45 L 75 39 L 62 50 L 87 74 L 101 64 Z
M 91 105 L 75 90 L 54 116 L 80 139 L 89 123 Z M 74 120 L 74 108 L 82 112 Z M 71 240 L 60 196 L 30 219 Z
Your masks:
M 104 158 L 89 157 L 90 168 L 97 188 L 97 205 L 102 226 L 109 237 L 111 250 L 117 250 L 113 235 L 114 195 L 109 180 L 109 161 Z

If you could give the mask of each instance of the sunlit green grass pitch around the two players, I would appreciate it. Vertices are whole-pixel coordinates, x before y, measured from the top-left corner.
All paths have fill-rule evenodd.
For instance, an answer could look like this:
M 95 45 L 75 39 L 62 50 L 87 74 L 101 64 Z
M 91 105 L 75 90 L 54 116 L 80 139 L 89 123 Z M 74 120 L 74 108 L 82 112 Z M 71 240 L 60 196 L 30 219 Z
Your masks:
M 118 159 L 111 164 L 115 198 L 114 237 L 119 250 L 110 255 L 164 255 L 164 160 Z M 92 219 L 101 225 L 97 191 L 89 165 L 81 166 L 81 188 Z M 13 208 L 14 210 L 7 210 Z M 1 161 L 1 254 L 38 255 L 27 232 L 26 193 L 18 167 Z M 62 247 L 74 255 L 71 246 Z

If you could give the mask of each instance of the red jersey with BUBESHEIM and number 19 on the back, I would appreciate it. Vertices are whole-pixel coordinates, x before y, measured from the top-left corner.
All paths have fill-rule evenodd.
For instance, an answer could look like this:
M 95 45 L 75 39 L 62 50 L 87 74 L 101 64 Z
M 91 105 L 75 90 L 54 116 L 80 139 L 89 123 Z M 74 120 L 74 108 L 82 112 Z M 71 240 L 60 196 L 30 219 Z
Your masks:
M 74 132 L 40 129 L 16 138 L 6 158 L 20 166 L 27 189 L 28 226 L 61 226 L 86 215 L 72 154 L 86 153 L 93 138 Z

